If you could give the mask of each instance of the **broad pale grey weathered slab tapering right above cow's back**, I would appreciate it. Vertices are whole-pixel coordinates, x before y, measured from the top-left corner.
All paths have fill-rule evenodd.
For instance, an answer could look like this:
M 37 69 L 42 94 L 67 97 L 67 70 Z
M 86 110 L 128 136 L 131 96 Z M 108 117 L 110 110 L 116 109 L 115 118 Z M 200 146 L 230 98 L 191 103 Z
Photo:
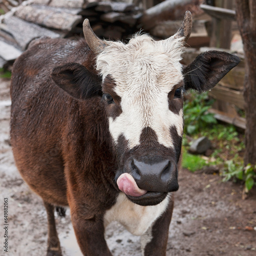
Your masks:
M 22 50 L 26 50 L 28 44 L 35 38 L 41 36 L 49 36 L 52 38 L 63 36 L 60 33 L 41 28 L 36 24 L 25 22 L 25 20 L 14 16 L 5 18 L 5 24 Z

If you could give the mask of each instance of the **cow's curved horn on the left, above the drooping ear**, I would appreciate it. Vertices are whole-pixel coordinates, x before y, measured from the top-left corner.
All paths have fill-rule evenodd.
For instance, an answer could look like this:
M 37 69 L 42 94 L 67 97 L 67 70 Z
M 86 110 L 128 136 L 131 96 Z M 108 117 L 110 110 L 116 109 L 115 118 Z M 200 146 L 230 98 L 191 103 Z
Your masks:
M 87 40 L 87 44 L 94 53 L 100 53 L 107 46 L 106 42 L 98 38 L 89 23 L 89 19 L 84 19 L 82 24 L 83 34 Z

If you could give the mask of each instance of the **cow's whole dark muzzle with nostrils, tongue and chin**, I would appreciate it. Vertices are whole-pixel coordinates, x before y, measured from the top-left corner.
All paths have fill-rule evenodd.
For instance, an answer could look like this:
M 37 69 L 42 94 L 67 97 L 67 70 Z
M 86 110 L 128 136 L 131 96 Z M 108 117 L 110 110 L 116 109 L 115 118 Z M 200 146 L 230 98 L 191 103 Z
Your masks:
M 178 190 L 177 165 L 163 157 L 132 157 L 126 160 L 117 185 L 131 201 L 140 205 L 155 205 L 168 192 Z

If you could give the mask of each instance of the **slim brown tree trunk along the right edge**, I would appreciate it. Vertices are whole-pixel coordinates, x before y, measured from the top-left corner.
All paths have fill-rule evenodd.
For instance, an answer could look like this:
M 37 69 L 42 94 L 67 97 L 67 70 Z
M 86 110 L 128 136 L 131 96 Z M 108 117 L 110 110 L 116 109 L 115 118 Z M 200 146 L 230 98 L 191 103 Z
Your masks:
M 256 1 L 236 0 L 237 20 L 245 52 L 246 111 L 244 164 L 256 164 Z

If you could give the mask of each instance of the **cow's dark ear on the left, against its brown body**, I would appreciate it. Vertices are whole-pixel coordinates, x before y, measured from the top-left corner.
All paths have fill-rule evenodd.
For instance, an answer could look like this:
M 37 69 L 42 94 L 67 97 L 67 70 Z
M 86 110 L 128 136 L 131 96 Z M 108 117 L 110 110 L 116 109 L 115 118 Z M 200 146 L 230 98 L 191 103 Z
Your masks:
M 101 79 L 78 63 L 53 69 L 51 78 L 58 87 L 77 99 L 87 99 L 101 95 Z

